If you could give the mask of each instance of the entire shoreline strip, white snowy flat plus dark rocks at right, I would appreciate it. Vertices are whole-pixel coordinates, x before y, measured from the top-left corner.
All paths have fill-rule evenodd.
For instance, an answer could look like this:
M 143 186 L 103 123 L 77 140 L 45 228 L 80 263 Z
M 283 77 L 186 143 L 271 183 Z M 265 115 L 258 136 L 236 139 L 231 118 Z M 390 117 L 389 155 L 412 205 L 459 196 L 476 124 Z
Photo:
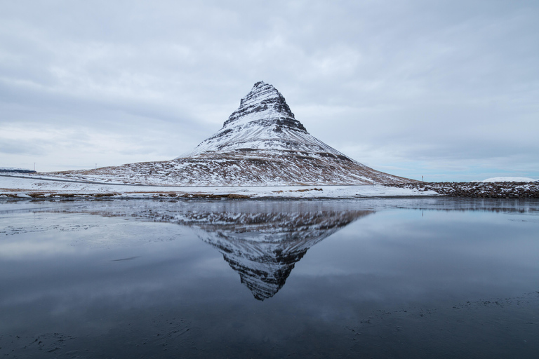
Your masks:
M 539 198 L 539 182 L 411 182 L 321 186 L 171 186 L 82 182 L 0 175 L 0 198 L 253 198 L 351 199 L 404 197 Z

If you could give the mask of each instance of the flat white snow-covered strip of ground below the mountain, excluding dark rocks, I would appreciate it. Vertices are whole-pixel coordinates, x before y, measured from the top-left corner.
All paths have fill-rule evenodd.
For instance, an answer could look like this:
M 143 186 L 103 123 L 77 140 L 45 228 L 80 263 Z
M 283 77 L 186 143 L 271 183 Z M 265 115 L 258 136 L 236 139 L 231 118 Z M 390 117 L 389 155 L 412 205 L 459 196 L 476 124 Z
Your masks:
M 274 186 L 274 187 L 176 187 L 140 186 L 126 184 L 98 184 L 67 182 L 58 179 L 39 179 L 32 176 L 0 175 L 0 198 L 66 197 L 112 194 L 127 198 L 159 196 L 230 196 L 231 198 L 361 198 L 391 196 L 439 196 L 434 191 L 384 187 L 359 186 Z

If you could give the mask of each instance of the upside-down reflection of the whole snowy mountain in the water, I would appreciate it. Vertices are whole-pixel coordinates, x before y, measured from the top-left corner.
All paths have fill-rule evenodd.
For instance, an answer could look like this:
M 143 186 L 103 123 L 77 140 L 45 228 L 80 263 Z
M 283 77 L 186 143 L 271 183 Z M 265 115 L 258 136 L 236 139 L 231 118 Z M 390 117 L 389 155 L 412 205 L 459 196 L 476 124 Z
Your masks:
M 331 208 L 331 206 L 328 206 Z M 322 210 L 294 205 L 270 208 L 161 205 L 90 205 L 76 212 L 134 217 L 189 226 L 217 248 L 258 300 L 273 297 L 307 250 L 373 210 Z M 67 210 L 71 211 L 71 210 Z

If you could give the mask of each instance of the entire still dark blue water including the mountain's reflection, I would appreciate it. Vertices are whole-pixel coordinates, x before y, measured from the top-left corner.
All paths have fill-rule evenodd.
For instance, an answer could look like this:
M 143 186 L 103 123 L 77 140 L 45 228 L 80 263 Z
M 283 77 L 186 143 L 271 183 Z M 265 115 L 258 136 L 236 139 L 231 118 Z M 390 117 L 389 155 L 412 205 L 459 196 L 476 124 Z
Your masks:
M 0 356 L 538 358 L 539 201 L 4 201 Z

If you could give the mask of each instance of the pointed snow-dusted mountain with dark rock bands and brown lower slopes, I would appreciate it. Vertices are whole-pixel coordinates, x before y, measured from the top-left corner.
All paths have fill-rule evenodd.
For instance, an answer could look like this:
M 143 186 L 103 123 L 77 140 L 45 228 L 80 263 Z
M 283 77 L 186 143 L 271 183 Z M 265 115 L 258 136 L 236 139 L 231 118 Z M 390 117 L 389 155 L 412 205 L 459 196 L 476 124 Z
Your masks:
M 310 135 L 295 119 L 283 95 L 263 81 L 255 83 L 215 135 L 172 161 L 52 175 L 99 182 L 192 186 L 412 182 L 368 168 Z

